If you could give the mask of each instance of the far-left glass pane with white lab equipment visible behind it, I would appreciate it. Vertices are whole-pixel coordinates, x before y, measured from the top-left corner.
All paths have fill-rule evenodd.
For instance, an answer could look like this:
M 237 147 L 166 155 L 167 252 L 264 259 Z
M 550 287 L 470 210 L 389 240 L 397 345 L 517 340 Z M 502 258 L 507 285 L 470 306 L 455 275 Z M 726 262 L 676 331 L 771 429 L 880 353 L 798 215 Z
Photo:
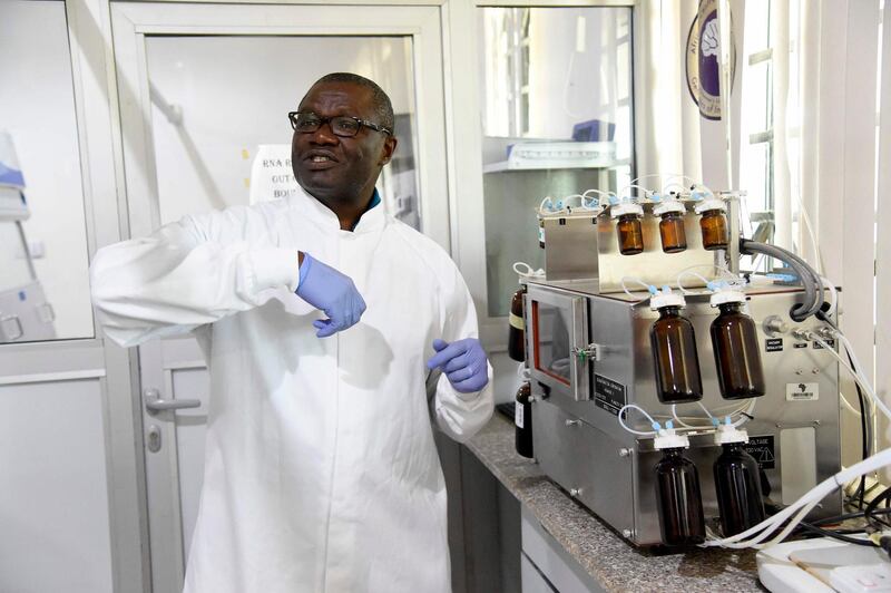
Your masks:
M 14 291 L 17 310 L 11 314 L 19 321 L 13 324 L 22 324 L 20 337 L 12 337 L 19 333 L 17 328 L 12 334 L 0 334 L 0 341 L 91 338 L 87 231 L 63 2 L 3 2 L 0 72 L 0 130 L 8 133 L 14 147 L 14 156 L 4 149 L 0 162 L 18 164 L 28 204 L 27 213 L 0 218 L 7 221 L 0 223 L 0 290 Z M 23 280 L 26 245 L 14 220 L 21 221 L 27 237 L 35 282 L 30 273 Z M 0 317 L 7 314 L 0 311 Z

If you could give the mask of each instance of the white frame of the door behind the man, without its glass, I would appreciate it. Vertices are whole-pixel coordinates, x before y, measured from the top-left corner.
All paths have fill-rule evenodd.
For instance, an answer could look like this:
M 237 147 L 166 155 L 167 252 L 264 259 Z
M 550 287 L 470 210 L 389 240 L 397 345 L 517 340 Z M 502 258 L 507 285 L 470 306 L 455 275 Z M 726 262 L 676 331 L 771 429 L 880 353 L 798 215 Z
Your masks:
M 424 233 L 450 247 L 448 144 L 443 87 L 443 19 L 439 6 L 184 4 L 111 2 L 118 105 L 121 189 L 119 207 L 130 236 L 149 234 L 160 223 L 151 139 L 151 103 L 146 37 L 182 36 L 386 36 L 410 37 L 414 72 L 415 154 Z M 271 26 L 270 22 L 276 25 Z M 354 22 L 346 25 L 343 22 Z M 300 65 L 295 64 L 295 68 Z M 131 386 L 134 406 L 141 391 L 158 389 L 173 398 L 170 369 L 196 368 L 193 338 L 153 341 L 139 347 L 139 375 Z M 150 418 L 150 420 L 149 420 Z M 161 427 L 161 451 L 145 451 L 150 572 L 154 590 L 182 587 L 185 576 L 183 521 L 174 412 L 141 415 L 143 440 L 149 422 Z M 166 450 L 164 450 L 166 448 Z M 150 479 L 148 476 L 151 476 Z

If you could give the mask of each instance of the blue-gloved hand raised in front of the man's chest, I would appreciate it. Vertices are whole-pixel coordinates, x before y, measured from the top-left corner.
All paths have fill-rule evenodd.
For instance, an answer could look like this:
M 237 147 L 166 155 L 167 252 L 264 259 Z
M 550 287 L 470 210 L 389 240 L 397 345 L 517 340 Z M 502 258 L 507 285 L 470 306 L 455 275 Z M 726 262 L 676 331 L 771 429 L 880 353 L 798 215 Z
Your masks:
M 365 301 L 353 281 L 309 253 L 303 254 L 296 294 L 329 317 L 313 321 L 319 338 L 327 338 L 358 323 L 365 312 Z

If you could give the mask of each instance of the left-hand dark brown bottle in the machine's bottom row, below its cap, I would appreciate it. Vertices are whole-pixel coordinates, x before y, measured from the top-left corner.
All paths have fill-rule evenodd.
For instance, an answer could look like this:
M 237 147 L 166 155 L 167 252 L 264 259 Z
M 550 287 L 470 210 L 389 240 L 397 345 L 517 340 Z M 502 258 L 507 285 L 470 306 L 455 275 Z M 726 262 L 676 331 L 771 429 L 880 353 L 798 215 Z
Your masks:
M 663 458 L 656 464 L 656 507 L 662 543 L 667 546 L 696 545 L 705 541 L 699 474 L 683 450 L 664 449 Z

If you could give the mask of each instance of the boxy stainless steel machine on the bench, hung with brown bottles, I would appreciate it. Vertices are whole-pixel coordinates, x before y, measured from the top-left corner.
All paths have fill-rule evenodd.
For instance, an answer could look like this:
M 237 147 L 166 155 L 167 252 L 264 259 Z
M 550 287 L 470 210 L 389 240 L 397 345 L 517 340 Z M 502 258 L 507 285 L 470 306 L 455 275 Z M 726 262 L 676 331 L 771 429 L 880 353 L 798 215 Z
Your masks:
M 714 200 L 722 201 L 723 210 L 713 210 L 726 214 L 725 250 L 706 249 L 701 214 L 694 208 L 698 202 L 682 194 L 687 249 L 665 253 L 658 239 L 660 217 L 653 213 L 658 203 L 644 197 L 637 204 L 643 210 L 640 253 L 628 257 L 619 252 L 614 215 L 620 203 L 588 218 L 555 215 L 544 221 L 545 276 L 526 282 L 536 460 L 579 503 L 640 546 L 663 544 L 654 474 L 663 451 L 654 445 L 650 426 L 639 418 L 623 418 L 637 434 L 619 424 L 626 405 L 640 406 L 659 422 L 678 418 L 675 429 L 689 440 L 684 457 L 697 467 L 706 521 L 719 517 L 714 464 L 722 453 L 707 410 L 715 417 L 731 416 L 732 424 L 747 430 L 748 441 L 740 447 L 756 460 L 764 494 L 775 506 L 791 505 L 841 467 L 839 364 L 834 351 L 810 339 L 825 337 L 819 333 L 824 322 L 814 313 L 828 288 L 813 285 L 812 276 L 804 286 L 763 276 L 744 282 L 737 272 L 741 243 L 746 253 L 765 247 L 741 241 L 738 194 L 717 195 Z M 699 401 L 659 399 L 650 331 L 663 312 L 653 310 L 652 294 L 637 289 L 640 282 L 681 285 L 686 292 L 683 318 L 693 330 Z M 715 307 L 713 294 L 721 294 Z M 825 314 L 834 319 L 834 312 Z M 764 397 L 728 401 L 722 396 L 716 348 L 723 346 L 712 340 L 718 318 L 722 328 L 735 332 L 730 342 L 744 347 L 742 353 L 724 357 L 728 369 L 746 369 L 744 380 L 724 377 L 732 387 L 726 392 Z M 841 493 L 830 494 L 810 516 L 838 515 L 841 502 Z

